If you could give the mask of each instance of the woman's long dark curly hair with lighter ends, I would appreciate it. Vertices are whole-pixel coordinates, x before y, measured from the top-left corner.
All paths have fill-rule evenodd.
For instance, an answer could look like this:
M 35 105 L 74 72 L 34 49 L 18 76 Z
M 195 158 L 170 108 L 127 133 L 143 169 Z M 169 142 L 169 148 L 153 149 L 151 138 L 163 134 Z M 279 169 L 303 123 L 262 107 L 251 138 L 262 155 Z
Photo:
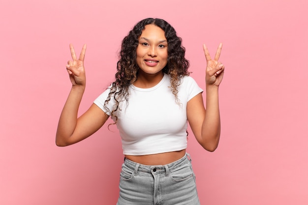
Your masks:
M 137 80 L 139 69 L 136 61 L 136 49 L 139 44 L 138 38 L 145 29 L 145 26 L 149 24 L 155 25 L 165 32 L 168 43 L 168 59 L 162 71 L 171 77 L 171 89 L 177 103 L 179 103 L 177 87 L 181 83 L 181 78 L 189 75 L 187 71 L 189 61 L 185 59 L 185 48 L 182 46 L 182 38 L 177 36 L 175 29 L 162 19 L 148 18 L 138 22 L 122 41 L 122 48 L 117 63 L 117 73 L 115 75 L 116 81 L 112 83 L 109 95 L 104 103 L 104 107 L 109 110 L 106 104 L 112 96 L 114 97 L 116 105 L 111 111 L 111 116 L 115 117 L 115 123 L 117 123 L 118 117 L 114 113 L 118 109 L 121 110 L 119 103 L 123 100 L 128 100 L 128 88 Z

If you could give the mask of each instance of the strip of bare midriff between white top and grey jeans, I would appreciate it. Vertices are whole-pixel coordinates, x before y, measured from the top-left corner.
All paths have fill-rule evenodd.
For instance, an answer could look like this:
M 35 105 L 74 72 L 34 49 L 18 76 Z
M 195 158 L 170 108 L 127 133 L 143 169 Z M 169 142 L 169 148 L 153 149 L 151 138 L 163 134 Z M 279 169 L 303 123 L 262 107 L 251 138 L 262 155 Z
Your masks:
M 143 165 L 166 165 L 184 157 L 186 150 L 148 155 L 125 155 L 126 159 Z

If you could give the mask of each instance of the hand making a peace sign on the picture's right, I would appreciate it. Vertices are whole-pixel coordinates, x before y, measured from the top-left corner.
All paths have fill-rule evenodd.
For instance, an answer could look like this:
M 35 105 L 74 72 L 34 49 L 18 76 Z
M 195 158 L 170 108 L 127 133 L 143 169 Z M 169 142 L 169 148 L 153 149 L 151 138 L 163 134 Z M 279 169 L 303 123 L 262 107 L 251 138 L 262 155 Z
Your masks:
M 224 73 L 224 65 L 218 62 L 222 48 L 222 43 L 219 44 L 214 60 L 211 58 L 208 48 L 203 44 L 204 55 L 207 60 L 205 82 L 207 85 L 219 86 Z

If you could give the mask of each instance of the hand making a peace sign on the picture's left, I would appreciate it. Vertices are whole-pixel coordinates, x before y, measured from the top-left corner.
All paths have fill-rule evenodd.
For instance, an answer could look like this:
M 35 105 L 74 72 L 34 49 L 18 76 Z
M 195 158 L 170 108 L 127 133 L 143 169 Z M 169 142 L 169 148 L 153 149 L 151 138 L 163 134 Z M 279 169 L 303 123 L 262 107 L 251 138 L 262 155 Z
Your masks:
M 68 60 L 66 65 L 66 70 L 69 74 L 69 79 L 72 86 L 86 86 L 86 72 L 84 67 L 84 59 L 86 55 L 87 45 L 82 47 L 79 55 L 79 59 L 76 57 L 76 53 L 72 44 L 69 44 L 70 53 L 73 60 Z

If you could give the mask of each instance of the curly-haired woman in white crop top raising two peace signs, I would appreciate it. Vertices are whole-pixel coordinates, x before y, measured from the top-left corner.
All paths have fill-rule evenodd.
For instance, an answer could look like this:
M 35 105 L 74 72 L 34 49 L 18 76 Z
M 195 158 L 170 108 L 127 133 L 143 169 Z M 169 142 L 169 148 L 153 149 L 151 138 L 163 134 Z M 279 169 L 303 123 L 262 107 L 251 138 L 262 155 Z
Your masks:
M 214 151 L 220 136 L 218 87 L 224 66 L 203 45 L 206 109 L 189 77 L 182 39 L 162 19 L 144 19 L 123 39 L 115 82 L 77 118 L 85 86 L 84 58 L 70 45 L 66 65 L 71 91 L 60 116 L 56 144 L 68 146 L 91 136 L 112 117 L 122 137 L 125 160 L 117 205 L 199 205 L 187 145 L 187 120 L 201 146 Z

